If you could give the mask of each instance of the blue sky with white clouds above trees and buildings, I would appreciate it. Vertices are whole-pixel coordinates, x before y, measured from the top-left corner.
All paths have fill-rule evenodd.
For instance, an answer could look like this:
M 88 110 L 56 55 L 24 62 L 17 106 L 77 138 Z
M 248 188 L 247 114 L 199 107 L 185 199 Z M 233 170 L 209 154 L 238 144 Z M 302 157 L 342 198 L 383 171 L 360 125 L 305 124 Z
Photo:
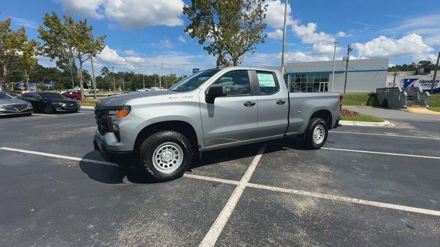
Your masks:
M 188 20 L 181 14 L 188 0 L 5 0 L 0 19 L 11 17 L 12 27 L 25 25 L 37 38 L 36 27 L 46 12 L 71 12 L 87 18 L 94 34 L 107 34 L 107 47 L 96 58 L 98 69 L 154 73 L 157 56 L 164 73 L 190 73 L 215 64 L 197 40 L 184 33 Z M 265 44 L 255 54 L 246 54 L 245 65 L 278 65 L 284 1 L 266 1 Z M 289 1 L 287 62 L 331 60 L 333 41 L 338 40 L 337 58 L 347 45 L 353 59 L 389 57 L 391 64 L 432 60 L 440 49 L 440 1 Z M 39 58 L 42 64 L 53 63 Z M 87 69 L 87 68 L 86 68 Z

